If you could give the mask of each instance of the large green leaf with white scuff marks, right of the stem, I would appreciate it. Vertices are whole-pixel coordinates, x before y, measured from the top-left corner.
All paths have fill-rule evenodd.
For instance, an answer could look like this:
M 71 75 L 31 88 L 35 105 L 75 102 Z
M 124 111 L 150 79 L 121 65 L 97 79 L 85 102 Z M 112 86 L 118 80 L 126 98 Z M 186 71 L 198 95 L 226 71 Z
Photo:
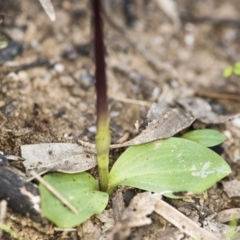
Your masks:
M 201 193 L 230 172 L 224 159 L 207 147 L 169 138 L 129 147 L 113 165 L 109 185 L 110 190 L 126 185 L 166 196 Z

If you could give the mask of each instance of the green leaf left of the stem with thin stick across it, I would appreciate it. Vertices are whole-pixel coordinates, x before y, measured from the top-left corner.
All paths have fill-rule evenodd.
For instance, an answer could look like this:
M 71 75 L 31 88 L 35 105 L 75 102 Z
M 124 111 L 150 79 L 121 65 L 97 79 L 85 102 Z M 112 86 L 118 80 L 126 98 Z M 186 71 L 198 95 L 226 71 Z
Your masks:
M 44 179 L 78 210 L 78 215 L 74 214 L 40 184 L 42 214 L 59 227 L 77 226 L 101 213 L 108 203 L 108 194 L 98 190 L 96 180 L 88 173 L 52 173 Z

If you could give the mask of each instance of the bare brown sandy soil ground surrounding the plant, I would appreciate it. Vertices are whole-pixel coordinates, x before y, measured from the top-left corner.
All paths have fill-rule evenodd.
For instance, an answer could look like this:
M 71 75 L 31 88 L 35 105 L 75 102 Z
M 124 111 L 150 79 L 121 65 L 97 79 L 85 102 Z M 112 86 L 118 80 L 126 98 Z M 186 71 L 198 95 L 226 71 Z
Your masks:
M 78 138 L 94 142 L 94 62 L 88 1 L 53 0 L 55 22 L 48 19 L 38 1 L 2 2 L 5 20 L 0 26 L 1 39 L 9 37 L 21 43 L 22 53 L 0 66 L 0 110 L 7 119 L 0 122 L 0 150 L 20 156 L 23 144 L 74 142 Z M 218 114 L 239 112 L 240 79 L 222 76 L 226 66 L 240 60 L 238 0 L 176 0 L 179 19 L 171 19 L 157 1 L 129 1 L 134 6 L 129 16 L 122 11 L 124 1 L 106 2 L 112 143 L 122 136 L 125 140 L 135 136 L 134 123 L 144 119 L 157 100 L 174 105 L 176 99 L 201 96 Z M 227 135 L 218 150 L 233 171 L 224 181 L 240 180 L 239 121 L 195 123 L 194 127 L 212 127 Z M 112 159 L 117 155 L 119 152 L 113 151 Z M 209 213 L 240 207 L 240 196 L 230 198 L 221 183 L 201 199 Z M 203 220 L 193 214 L 199 199 L 172 204 L 195 216 L 196 221 Z M 160 216 L 153 214 L 151 218 L 153 224 L 135 229 L 129 239 L 190 239 Z M 92 222 L 98 224 L 94 219 Z M 66 232 L 51 224 L 38 226 L 10 209 L 5 223 L 26 240 L 94 239 L 84 237 L 81 227 Z M 4 233 L 2 239 L 12 237 Z

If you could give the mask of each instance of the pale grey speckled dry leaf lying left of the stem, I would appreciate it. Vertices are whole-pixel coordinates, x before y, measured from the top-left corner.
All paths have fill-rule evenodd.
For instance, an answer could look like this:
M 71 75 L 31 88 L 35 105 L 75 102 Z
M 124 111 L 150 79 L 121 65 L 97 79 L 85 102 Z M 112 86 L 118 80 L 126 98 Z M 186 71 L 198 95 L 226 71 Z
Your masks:
M 73 143 L 40 143 L 21 146 L 27 174 L 31 170 L 40 172 L 84 172 L 96 166 L 93 149 Z

